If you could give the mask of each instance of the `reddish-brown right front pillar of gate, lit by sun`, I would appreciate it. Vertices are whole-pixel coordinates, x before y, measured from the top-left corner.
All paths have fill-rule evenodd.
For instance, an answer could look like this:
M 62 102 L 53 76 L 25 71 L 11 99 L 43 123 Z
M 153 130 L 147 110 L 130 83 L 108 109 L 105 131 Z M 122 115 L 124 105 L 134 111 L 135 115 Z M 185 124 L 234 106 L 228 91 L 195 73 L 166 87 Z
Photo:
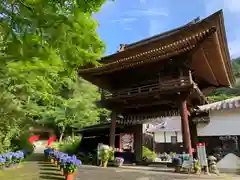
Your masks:
M 187 109 L 186 100 L 182 100 L 180 102 L 180 115 L 181 115 L 184 151 L 192 156 L 192 143 L 191 143 L 189 122 L 188 122 L 188 109 Z

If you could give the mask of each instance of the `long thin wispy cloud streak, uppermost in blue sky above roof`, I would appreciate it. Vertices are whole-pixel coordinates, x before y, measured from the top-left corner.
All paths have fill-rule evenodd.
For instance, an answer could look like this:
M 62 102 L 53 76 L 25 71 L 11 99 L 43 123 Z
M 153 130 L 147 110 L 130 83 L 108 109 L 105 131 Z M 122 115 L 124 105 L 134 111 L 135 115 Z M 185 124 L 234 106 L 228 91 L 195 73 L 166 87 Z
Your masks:
M 132 16 L 168 16 L 169 12 L 166 9 L 149 8 L 142 10 L 132 10 L 126 12 L 125 14 Z

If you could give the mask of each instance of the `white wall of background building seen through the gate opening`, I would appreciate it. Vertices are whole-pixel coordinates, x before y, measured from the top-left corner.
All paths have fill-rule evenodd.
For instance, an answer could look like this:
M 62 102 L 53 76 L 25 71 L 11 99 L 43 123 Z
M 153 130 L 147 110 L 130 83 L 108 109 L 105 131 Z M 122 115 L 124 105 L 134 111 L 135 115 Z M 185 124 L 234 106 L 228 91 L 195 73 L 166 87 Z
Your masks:
M 166 132 L 166 143 L 171 143 L 171 136 L 176 136 L 175 132 Z M 154 141 L 156 143 L 165 143 L 164 132 L 156 132 Z M 177 132 L 177 141 L 182 142 L 181 132 Z

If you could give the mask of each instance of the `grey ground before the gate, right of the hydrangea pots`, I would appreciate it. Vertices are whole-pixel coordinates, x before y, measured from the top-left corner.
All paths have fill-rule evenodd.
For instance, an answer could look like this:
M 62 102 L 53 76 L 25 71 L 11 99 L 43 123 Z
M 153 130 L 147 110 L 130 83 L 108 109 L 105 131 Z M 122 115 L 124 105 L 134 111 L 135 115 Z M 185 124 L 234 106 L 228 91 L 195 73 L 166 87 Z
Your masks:
M 78 171 L 77 180 L 240 180 L 239 177 L 217 177 L 207 175 L 188 175 L 172 172 L 155 172 L 151 170 L 135 170 L 125 168 L 100 168 L 95 166 L 82 166 Z

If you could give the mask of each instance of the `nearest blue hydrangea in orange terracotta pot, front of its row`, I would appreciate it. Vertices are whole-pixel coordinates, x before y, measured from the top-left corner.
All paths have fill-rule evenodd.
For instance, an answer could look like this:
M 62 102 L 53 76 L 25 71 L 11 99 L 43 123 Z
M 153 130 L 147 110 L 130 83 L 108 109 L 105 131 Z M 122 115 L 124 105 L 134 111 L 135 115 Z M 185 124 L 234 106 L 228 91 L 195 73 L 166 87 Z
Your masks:
M 75 155 L 66 157 L 64 160 L 64 175 L 66 180 L 73 180 L 78 166 L 81 164 L 81 161 L 77 159 Z

